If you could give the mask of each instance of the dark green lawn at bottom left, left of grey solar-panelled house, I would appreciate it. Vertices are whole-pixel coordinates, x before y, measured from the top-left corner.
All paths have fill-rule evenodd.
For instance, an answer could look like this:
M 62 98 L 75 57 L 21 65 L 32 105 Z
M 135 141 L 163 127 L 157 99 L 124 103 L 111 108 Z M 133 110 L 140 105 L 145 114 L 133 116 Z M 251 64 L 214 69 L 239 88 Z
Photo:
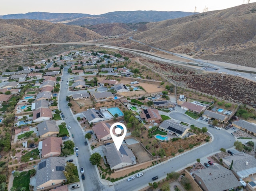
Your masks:
M 19 177 L 14 177 L 12 187 L 16 187 L 16 190 L 26 187 L 26 191 L 29 191 L 30 171 L 21 172 Z

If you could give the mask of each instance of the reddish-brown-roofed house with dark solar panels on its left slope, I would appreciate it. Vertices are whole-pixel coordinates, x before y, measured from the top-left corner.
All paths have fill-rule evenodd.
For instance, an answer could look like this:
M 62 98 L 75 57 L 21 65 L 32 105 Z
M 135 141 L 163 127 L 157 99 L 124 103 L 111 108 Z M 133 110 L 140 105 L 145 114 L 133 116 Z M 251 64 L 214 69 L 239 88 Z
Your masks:
M 147 123 L 160 123 L 162 121 L 162 117 L 159 115 L 158 110 L 152 108 L 142 110 L 140 117 Z

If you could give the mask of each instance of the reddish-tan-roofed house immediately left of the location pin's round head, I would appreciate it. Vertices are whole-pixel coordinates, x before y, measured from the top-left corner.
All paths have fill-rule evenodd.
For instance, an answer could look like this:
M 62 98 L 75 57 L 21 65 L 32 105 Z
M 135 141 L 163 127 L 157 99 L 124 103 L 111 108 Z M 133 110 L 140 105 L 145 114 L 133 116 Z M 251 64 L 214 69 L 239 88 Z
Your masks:
M 109 131 L 110 127 L 111 127 L 110 123 L 105 123 L 105 122 L 99 122 L 92 127 L 92 130 L 94 131 L 94 134 L 98 142 L 111 139 L 111 135 Z

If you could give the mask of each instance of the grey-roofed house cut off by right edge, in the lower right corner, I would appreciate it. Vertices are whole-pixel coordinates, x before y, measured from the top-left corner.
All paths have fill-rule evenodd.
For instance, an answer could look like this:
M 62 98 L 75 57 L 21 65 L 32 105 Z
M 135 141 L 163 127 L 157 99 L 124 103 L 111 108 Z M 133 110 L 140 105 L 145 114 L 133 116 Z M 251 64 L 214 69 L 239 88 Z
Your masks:
M 235 153 L 233 156 L 222 158 L 223 163 L 230 167 L 232 161 L 232 171 L 240 178 L 249 177 L 256 173 L 256 158 L 244 152 Z

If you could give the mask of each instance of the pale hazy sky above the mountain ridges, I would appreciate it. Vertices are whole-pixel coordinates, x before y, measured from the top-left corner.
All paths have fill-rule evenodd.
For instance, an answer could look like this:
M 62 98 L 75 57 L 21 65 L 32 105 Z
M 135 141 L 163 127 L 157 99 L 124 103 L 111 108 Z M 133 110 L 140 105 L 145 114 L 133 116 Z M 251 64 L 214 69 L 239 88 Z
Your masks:
M 203 12 L 222 10 L 248 0 L 1 0 L 0 15 L 28 12 L 104 14 L 114 11 L 157 10 Z M 250 0 L 250 3 L 256 0 Z

